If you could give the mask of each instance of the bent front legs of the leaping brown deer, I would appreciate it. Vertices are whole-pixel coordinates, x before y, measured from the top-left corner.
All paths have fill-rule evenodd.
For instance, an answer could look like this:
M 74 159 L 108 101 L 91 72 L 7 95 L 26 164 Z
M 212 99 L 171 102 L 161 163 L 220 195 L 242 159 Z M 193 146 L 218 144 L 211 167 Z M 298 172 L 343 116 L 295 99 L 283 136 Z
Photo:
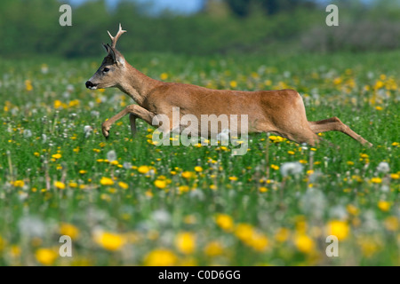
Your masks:
M 101 125 L 101 131 L 103 132 L 105 138 L 109 137 L 109 130 L 111 128 L 111 125 L 114 124 L 120 118 L 124 117 L 126 114 L 130 114 L 129 119 L 131 122 L 132 135 L 134 135 L 134 133 L 136 132 L 136 123 L 135 123 L 136 118 L 141 118 L 142 120 L 148 122 L 148 124 L 151 125 L 153 117 L 155 116 L 155 114 L 149 112 L 146 108 L 143 108 L 141 106 L 138 105 L 126 106 L 123 111 L 114 115 L 108 121 L 103 122 L 103 124 Z

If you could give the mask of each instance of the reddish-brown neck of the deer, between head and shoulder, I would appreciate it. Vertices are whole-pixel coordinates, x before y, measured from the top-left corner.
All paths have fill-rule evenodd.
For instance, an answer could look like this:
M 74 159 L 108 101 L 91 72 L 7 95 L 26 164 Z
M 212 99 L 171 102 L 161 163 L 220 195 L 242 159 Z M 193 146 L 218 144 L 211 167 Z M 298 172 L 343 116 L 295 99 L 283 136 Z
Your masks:
M 128 63 L 125 63 L 125 67 L 128 68 L 128 72 L 126 73 L 124 82 L 118 88 L 142 106 L 148 92 L 157 85 L 162 84 L 162 82 L 144 75 Z

